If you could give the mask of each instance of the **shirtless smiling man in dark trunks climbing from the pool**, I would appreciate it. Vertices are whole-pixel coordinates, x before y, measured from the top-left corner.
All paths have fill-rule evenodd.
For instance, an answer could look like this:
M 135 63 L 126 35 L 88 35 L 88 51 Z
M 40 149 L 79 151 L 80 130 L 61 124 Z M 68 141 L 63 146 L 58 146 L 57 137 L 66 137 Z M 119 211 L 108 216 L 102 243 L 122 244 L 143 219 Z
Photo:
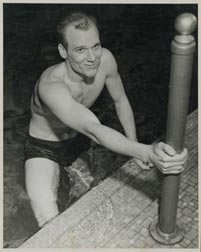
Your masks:
M 181 173 L 187 150 L 138 143 L 134 116 L 112 53 L 101 47 L 96 22 L 74 13 L 59 23 L 63 62 L 47 68 L 31 100 L 32 118 L 25 148 L 27 193 L 40 227 L 58 215 L 60 161 L 68 157 L 77 133 L 111 151 L 133 157 L 142 169 L 156 165 L 164 174 Z M 106 85 L 125 135 L 104 126 L 89 110 Z M 67 149 L 65 149 L 65 146 Z M 65 160 L 64 160 L 65 162 Z

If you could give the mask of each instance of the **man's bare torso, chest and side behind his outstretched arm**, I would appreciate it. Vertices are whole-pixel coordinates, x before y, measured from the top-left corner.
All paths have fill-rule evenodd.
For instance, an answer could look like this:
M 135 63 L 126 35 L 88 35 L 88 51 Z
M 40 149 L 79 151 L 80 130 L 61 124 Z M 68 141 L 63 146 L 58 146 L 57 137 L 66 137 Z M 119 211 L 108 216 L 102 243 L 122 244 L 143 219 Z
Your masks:
M 32 119 L 29 127 L 30 135 L 50 141 L 61 141 L 72 138 L 76 135 L 76 132 L 59 121 L 40 99 L 38 86 L 44 78 L 45 81 L 47 81 L 48 78 L 50 81 L 52 78 L 55 80 L 58 78 L 58 81 L 62 81 L 64 85 L 67 86 L 73 99 L 83 104 L 85 107 L 90 108 L 104 87 L 106 74 L 103 69 L 103 64 L 100 63 L 96 77 L 90 84 L 70 81 L 66 74 L 65 62 L 48 68 L 36 83 L 31 99 Z

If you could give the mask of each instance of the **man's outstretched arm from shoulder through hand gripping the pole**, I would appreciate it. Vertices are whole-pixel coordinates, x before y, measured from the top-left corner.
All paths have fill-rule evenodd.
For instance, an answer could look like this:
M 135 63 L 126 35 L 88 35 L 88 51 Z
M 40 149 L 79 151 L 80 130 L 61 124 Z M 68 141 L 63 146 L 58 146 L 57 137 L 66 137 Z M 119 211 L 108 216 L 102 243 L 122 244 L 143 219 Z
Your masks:
M 164 172 L 164 169 L 166 173 L 179 173 L 182 171 L 184 159 L 186 158 L 185 153 L 178 155 L 174 153 L 171 156 L 169 152 L 173 152 L 172 149 L 169 151 L 164 146 L 154 149 L 152 145 L 134 142 L 121 133 L 102 125 L 89 109 L 71 97 L 64 84 L 41 82 L 39 95 L 49 110 L 62 123 L 88 136 L 111 151 L 135 157 L 145 163 L 153 162 L 160 166 L 162 172 Z

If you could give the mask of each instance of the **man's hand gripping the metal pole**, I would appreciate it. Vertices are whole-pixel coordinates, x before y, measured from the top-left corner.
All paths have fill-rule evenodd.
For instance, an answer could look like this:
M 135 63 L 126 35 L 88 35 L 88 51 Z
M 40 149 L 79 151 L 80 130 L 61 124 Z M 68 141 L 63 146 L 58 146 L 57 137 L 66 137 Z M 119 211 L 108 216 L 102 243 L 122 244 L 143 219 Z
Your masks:
M 150 159 L 163 174 L 179 174 L 184 171 L 187 156 L 187 149 L 176 154 L 170 145 L 160 142 L 153 145 Z

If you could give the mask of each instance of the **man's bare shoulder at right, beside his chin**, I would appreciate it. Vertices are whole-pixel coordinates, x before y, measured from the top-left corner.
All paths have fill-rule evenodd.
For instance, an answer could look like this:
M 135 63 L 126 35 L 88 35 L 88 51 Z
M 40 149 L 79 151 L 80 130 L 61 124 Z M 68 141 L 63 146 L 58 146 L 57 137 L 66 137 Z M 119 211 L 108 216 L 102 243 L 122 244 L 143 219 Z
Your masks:
M 102 48 L 102 63 L 107 75 L 117 74 L 117 62 L 112 52 L 106 48 Z

